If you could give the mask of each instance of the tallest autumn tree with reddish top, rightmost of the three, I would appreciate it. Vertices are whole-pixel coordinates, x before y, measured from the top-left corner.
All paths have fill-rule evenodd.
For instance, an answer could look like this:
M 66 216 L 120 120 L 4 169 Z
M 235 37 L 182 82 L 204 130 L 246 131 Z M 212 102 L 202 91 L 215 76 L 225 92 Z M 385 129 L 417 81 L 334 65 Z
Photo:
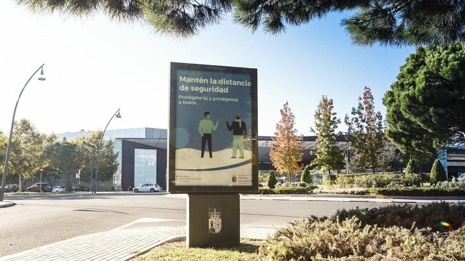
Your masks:
M 373 95 L 370 88 L 364 88 L 359 105 L 352 108 L 352 118 L 345 115 L 345 124 L 349 127 L 349 141 L 356 152 L 359 163 L 368 168 L 379 166 L 379 157 L 385 146 L 385 123 L 381 112 L 375 112 Z M 353 154 L 353 153 L 352 153 Z

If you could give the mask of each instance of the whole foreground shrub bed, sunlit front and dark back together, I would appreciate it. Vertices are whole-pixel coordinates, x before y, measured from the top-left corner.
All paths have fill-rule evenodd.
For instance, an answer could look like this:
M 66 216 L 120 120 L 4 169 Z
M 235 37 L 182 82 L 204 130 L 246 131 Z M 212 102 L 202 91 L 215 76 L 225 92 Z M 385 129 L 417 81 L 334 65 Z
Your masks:
M 464 218 L 463 203 L 343 209 L 278 229 L 259 255 L 281 261 L 465 260 Z

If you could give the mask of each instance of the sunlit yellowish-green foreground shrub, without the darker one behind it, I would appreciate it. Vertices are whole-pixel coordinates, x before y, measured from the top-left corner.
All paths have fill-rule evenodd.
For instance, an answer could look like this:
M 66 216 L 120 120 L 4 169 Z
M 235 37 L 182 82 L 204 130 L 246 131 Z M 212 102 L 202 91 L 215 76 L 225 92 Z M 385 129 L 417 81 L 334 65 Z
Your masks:
M 438 234 L 428 228 L 364 226 L 356 217 L 302 220 L 268 237 L 259 256 L 280 261 L 464 260 L 464 230 Z

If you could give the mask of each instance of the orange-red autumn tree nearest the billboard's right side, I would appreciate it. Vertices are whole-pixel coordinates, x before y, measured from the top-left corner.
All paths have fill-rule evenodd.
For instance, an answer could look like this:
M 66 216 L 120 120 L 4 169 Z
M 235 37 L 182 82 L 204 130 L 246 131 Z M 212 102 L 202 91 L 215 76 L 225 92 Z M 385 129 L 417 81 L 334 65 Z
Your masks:
M 273 166 L 281 173 L 289 173 L 289 180 L 292 181 L 292 174 L 301 170 L 299 162 L 302 160 L 304 145 L 301 140 L 303 136 L 297 136 L 294 128 L 294 115 L 289 104 L 286 102 L 281 113 L 281 120 L 276 124 L 276 137 L 272 138 L 274 143 L 270 150 L 270 159 Z

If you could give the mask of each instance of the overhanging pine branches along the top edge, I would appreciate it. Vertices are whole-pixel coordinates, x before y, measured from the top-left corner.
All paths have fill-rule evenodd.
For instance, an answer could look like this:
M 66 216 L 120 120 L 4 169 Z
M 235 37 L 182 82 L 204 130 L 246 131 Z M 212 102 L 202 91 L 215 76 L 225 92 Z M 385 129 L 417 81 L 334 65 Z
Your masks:
M 16 0 L 35 13 L 59 12 L 67 16 L 105 13 L 110 18 L 145 20 L 155 32 L 188 37 L 219 24 L 234 10 L 234 20 L 252 32 L 263 26 L 277 34 L 286 25 L 300 26 L 330 12 L 357 10 L 342 20 L 352 41 L 371 46 L 450 44 L 463 40 L 463 1 L 451 0 Z

